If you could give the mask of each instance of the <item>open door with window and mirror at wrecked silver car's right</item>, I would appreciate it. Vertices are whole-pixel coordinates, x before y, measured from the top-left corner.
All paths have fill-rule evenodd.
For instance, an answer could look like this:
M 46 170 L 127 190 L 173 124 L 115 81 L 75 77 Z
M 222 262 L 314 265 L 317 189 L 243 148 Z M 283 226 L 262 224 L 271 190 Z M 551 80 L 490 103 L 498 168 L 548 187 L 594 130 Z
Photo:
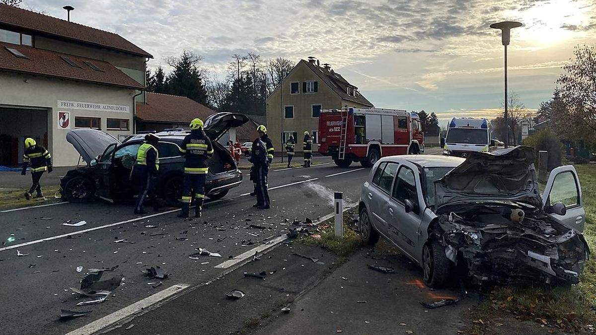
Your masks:
M 564 215 L 550 213 L 550 215 L 569 227 L 583 231 L 586 213 L 583 210 L 582 188 L 579 184 L 578 172 L 572 165 L 552 169 L 548 177 L 547 186 L 542 194 L 542 204 L 548 212 L 548 206 L 558 202 L 565 205 L 566 213 Z

